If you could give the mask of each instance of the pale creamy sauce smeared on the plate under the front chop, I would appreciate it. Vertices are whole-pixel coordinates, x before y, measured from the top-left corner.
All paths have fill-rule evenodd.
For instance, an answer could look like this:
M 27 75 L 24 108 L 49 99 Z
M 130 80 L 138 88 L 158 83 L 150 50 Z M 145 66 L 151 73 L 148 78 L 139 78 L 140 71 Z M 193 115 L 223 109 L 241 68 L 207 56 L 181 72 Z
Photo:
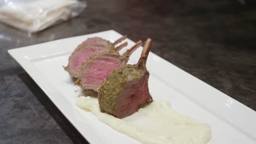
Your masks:
M 101 122 L 142 143 L 202 144 L 211 139 L 210 125 L 178 113 L 166 101 L 153 101 L 123 119 L 102 113 L 96 98 L 79 97 L 75 103 L 94 113 Z

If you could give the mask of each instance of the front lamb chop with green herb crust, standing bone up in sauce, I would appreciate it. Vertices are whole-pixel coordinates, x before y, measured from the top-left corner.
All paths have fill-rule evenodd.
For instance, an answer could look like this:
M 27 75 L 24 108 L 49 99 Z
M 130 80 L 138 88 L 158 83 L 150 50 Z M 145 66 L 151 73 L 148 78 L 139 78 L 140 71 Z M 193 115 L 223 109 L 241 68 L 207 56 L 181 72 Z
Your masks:
M 149 72 L 146 68 L 151 47 L 152 40 L 147 39 L 137 64 L 123 65 L 109 74 L 98 89 L 101 112 L 123 118 L 153 101 L 148 89 Z

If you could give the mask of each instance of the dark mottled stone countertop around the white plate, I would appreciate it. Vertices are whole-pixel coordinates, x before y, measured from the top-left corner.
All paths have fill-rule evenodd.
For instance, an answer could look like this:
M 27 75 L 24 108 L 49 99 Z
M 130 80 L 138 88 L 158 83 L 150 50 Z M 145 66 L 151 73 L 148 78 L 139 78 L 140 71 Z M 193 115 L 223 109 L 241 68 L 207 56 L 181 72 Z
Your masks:
M 27 34 L 0 24 L 0 143 L 86 143 L 7 50 L 108 29 L 256 110 L 254 1 L 88 1 L 67 22 Z

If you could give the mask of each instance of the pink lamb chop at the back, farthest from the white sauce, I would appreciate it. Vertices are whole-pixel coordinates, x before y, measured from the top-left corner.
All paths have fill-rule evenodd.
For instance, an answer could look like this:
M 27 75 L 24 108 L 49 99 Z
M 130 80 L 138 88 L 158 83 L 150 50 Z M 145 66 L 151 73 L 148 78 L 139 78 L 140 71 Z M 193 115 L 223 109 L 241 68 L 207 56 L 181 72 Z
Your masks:
M 91 56 L 95 56 L 98 53 L 106 51 L 119 51 L 123 47 L 127 46 L 127 42 L 115 47 L 122 40 L 126 39 L 126 35 L 116 40 L 114 43 L 110 41 L 94 37 L 85 40 L 82 44 L 74 50 L 68 59 L 67 67 L 64 67 L 68 71 L 69 75 L 78 78 L 82 69 L 82 65 L 88 61 Z

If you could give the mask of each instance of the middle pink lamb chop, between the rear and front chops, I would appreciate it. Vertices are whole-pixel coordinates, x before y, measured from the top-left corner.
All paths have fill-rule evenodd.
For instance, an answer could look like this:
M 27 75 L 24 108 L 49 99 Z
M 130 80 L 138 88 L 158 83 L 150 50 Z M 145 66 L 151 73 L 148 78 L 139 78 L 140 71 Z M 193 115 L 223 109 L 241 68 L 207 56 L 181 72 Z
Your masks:
M 97 93 L 98 88 L 106 80 L 107 76 L 121 65 L 125 65 L 130 55 L 139 46 L 142 41 L 139 40 L 129 50 L 127 50 L 122 56 L 118 52 L 103 52 L 94 57 L 91 57 L 82 67 L 82 72 L 79 79 L 75 82 L 76 85 L 80 85 L 85 91 L 92 91 Z

